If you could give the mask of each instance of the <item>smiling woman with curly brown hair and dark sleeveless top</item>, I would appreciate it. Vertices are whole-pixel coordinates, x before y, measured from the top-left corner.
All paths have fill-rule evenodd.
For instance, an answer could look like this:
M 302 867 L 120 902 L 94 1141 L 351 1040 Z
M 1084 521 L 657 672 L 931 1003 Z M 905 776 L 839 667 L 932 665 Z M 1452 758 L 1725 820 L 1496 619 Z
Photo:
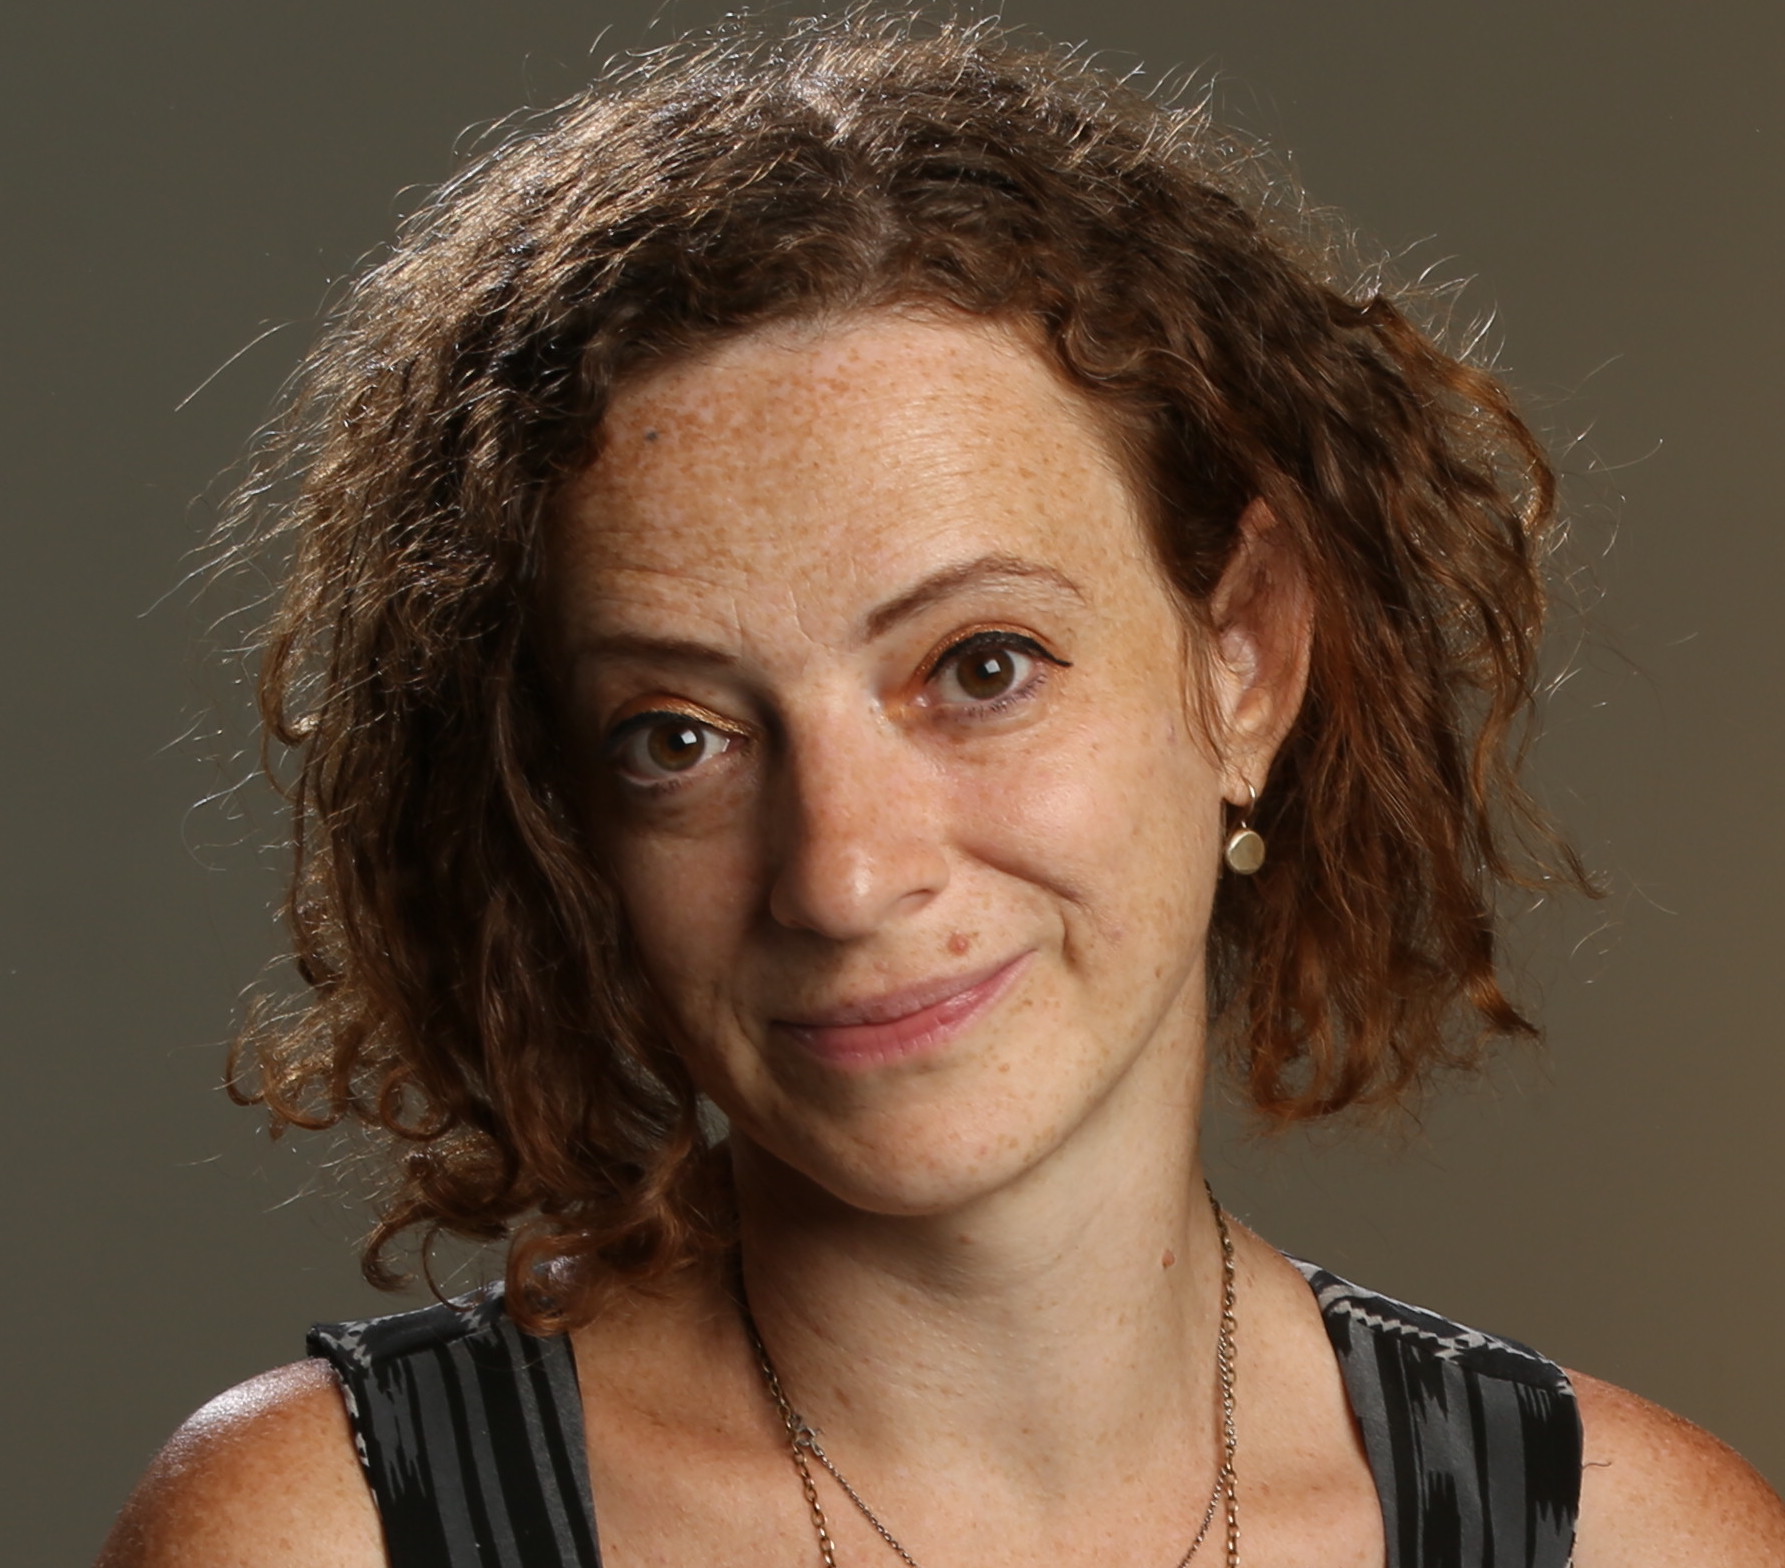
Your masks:
M 391 1138 L 375 1273 L 505 1289 L 320 1329 L 105 1563 L 1785 1561 L 1714 1439 L 1205 1195 L 1217 1047 L 1394 1104 L 1580 879 L 1549 470 L 1330 266 L 1198 116 L 864 21 L 416 220 L 246 489 L 309 991 L 241 1091 Z

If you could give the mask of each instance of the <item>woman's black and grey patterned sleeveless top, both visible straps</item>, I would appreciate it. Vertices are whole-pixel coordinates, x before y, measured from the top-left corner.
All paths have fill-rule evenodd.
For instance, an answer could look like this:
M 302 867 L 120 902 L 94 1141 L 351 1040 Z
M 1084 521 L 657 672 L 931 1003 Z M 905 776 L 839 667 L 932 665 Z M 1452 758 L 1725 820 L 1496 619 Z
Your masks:
M 1553 1361 L 1296 1263 L 1344 1372 L 1382 1498 L 1387 1568 L 1567 1568 L 1574 1391 Z M 600 1568 L 568 1338 L 493 1289 L 318 1323 L 391 1568 Z

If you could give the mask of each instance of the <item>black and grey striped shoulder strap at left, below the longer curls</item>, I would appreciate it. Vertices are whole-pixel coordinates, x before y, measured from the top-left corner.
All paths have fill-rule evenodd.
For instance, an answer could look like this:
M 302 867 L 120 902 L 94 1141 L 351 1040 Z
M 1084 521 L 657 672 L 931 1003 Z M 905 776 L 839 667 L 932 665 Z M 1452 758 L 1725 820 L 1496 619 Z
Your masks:
M 569 1339 L 523 1334 L 500 1289 L 318 1323 L 391 1568 L 600 1568 Z

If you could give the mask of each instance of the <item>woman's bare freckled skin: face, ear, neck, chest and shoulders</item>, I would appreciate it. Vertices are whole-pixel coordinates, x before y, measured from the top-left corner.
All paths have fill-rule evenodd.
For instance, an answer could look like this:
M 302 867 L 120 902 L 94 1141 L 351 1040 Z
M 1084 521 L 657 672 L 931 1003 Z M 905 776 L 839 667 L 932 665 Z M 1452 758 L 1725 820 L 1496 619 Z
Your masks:
M 1267 788 L 1307 659 L 1269 514 L 1189 630 L 1112 441 L 1028 341 L 873 314 L 627 388 L 559 521 L 589 822 L 730 1118 L 789 1393 L 932 1568 L 1175 1563 L 1217 1459 L 1201 952 L 1225 804 Z M 916 1054 L 789 1027 L 1000 966 Z M 1312 1295 L 1235 1243 L 1244 1561 L 1380 1564 Z M 610 1564 L 814 1559 L 721 1291 L 619 1302 L 575 1352 Z M 1785 1561 L 1739 1457 L 1576 1386 L 1580 1568 Z M 889 1561 L 826 1504 L 839 1561 Z M 298 1561 L 382 1561 L 316 1366 L 195 1416 L 102 1557 Z

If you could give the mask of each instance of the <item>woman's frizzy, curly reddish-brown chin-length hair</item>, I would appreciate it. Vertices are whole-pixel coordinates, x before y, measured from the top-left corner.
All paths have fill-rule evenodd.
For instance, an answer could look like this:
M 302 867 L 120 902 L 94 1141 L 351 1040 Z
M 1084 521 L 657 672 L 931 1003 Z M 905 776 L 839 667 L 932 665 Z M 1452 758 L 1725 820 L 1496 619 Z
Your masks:
M 250 1014 L 232 1091 L 275 1130 L 393 1141 L 371 1279 L 411 1229 L 509 1238 L 518 1314 L 562 1327 L 728 1238 L 700 1097 L 566 805 L 536 588 L 616 386 L 776 320 L 1026 323 L 1133 432 L 1192 618 L 1271 505 L 1312 670 L 1258 809 L 1271 861 L 1210 930 L 1267 1122 L 1405 1102 L 1533 1032 L 1496 905 L 1585 884 L 1517 784 L 1555 482 L 1501 384 L 1349 289 L 1344 254 L 1205 105 L 862 14 L 644 55 L 403 227 L 232 513 L 289 554 L 261 709 L 302 977 Z

